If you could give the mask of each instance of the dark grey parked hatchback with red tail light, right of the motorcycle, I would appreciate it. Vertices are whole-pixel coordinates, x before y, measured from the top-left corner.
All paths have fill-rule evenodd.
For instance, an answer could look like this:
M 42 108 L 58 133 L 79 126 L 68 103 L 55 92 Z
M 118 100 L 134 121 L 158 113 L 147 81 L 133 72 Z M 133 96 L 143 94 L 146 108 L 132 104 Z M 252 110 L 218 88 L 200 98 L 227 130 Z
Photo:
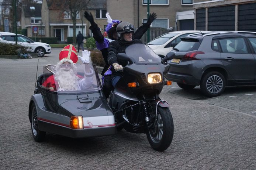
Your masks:
M 256 84 L 256 32 L 206 33 L 181 38 L 166 78 L 208 97 L 226 86 Z

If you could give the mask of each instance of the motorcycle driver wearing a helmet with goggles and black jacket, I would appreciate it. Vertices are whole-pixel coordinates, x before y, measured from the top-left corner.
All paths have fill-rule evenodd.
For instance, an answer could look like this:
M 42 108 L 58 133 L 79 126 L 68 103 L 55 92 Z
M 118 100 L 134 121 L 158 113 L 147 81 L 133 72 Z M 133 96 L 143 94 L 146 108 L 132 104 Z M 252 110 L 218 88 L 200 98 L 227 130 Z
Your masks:
M 117 54 L 125 53 L 125 48 L 131 44 L 142 43 L 141 40 L 134 39 L 134 25 L 129 22 L 119 23 L 116 31 L 118 39 L 112 41 L 108 47 L 108 64 L 113 66 L 111 68 L 111 83 L 113 87 L 115 87 L 121 77 L 121 73 L 117 71 L 123 69 L 122 65 L 125 65 L 125 63 L 119 63 L 117 61 Z

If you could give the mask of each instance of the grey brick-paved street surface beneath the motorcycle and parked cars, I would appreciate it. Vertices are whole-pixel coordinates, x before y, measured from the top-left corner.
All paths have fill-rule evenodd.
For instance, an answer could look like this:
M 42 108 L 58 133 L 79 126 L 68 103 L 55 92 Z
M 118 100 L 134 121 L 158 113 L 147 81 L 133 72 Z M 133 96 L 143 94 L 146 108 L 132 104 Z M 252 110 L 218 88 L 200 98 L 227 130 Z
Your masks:
M 39 58 L 55 64 L 61 49 Z M 28 119 L 37 58 L 0 59 L 0 169 L 256 169 L 256 87 L 231 87 L 216 98 L 199 88 L 173 83 L 161 98 L 170 103 L 174 137 L 164 152 L 154 151 L 145 134 L 72 139 L 46 134 L 35 142 Z

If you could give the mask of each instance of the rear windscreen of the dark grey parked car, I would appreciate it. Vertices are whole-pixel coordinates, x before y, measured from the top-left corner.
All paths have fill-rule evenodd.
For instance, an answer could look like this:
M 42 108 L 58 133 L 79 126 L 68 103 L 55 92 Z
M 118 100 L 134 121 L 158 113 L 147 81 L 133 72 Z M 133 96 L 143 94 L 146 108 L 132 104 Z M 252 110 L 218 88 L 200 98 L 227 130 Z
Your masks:
M 175 49 L 179 51 L 194 51 L 198 50 L 199 46 L 200 42 L 197 39 L 183 39 L 175 46 Z

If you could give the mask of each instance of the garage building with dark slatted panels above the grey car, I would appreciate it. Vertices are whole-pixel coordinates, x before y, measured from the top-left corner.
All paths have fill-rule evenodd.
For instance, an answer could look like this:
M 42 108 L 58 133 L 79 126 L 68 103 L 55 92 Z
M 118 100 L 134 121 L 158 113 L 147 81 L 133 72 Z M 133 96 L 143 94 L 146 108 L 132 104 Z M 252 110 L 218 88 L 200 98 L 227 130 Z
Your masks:
M 195 29 L 256 32 L 256 0 L 213 0 L 194 3 Z

